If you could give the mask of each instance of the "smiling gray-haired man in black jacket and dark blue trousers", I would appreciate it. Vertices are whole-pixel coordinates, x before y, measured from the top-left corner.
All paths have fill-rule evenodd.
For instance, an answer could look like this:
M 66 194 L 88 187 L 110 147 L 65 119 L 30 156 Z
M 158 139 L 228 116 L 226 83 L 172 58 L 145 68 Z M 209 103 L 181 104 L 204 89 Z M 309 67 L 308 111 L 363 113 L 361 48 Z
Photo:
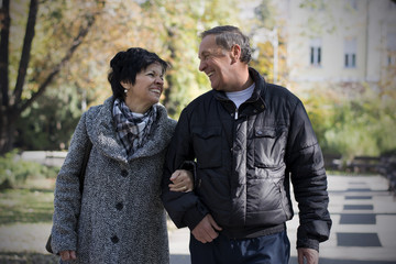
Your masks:
M 331 219 L 321 150 L 301 101 L 249 67 L 249 37 L 238 28 L 217 26 L 201 37 L 199 70 L 212 90 L 180 114 L 162 195 L 175 224 L 191 230 L 191 263 L 287 264 L 292 182 L 298 263 L 317 264 Z M 194 191 L 170 191 L 172 172 L 188 161 L 196 161 Z

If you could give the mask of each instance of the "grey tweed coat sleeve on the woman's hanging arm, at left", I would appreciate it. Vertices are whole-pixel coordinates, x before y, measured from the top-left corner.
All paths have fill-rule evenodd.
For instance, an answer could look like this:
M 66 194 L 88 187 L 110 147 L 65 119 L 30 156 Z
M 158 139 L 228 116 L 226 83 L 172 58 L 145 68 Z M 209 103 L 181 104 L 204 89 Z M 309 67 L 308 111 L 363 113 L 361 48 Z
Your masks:
M 89 141 L 86 130 L 86 113 L 82 114 L 76 127 L 65 162 L 56 178 L 52 228 L 54 253 L 65 250 L 76 251 L 77 249 L 76 228 L 81 199 L 79 174 Z

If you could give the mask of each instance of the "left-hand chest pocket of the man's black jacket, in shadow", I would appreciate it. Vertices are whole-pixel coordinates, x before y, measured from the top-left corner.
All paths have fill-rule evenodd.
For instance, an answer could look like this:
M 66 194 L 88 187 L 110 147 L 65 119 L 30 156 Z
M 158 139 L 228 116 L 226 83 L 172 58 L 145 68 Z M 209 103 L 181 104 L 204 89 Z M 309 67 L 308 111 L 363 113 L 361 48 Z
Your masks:
M 199 168 L 221 166 L 221 128 L 193 129 L 193 144 Z

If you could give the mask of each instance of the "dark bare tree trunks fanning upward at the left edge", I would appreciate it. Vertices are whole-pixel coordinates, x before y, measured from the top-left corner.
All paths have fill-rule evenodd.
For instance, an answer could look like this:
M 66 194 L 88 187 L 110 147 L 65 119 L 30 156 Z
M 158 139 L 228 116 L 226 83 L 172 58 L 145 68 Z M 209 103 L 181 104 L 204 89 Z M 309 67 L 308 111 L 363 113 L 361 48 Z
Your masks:
M 8 3 L 8 4 L 4 4 Z M 105 1 L 101 2 L 101 9 L 105 8 Z M 0 155 L 6 154 L 7 152 L 13 148 L 13 143 L 16 133 L 16 120 L 21 117 L 21 113 L 28 109 L 33 101 L 35 101 L 41 95 L 44 94 L 45 89 L 53 79 L 58 75 L 62 68 L 70 61 L 74 53 L 78 48 L 78 46 L 82 43 L 84 38 L 88 34 L 89 30 L 91 29 L 96 15 L 99 12 L 94 14 L 87 14 L 87 24 L 81 25 L 78 34 L 74 37 L 72 45 L 67 50 L 63 59 L 54 66 L 53 70 L 48 74 L 45 80 L 40 84 L 38 90 L 34 92 L 30 99 L 22 100 L 21 95 L 23 91 L 26 69 L 29 66 L 30 55 L 31 55 L 31 47 L 32 41 L 34 37 L 34 26 L 36 22 L 36 14 L 38 11 L 38 0 L 31 0 L 30 10 L 29 10 L 29 18 L 26 23 L 26 32 L 21 54 L 21 62 L 16 77 L 16 85 L 13 91 L 12 98 L 9 98 L 9 79 L 8 79 L 8 45 L 9 45 L 9 28 L 7 29 L 7 19 L 9 19 L 9 0 L 3 0 L 3 7 L 1 8 L 0 14 L 4 18 L 1 22 L 4 26 L 1 29 L 1 51 L 0 51 L 0 66 L 6 66 L 4 68 L 0 68 L 0 77 L 4 76 L 7 78 L 1 78 L 0 86 L 1 86 L 1 107 L 0 107 Z M 9 24 L 8 24 L 9 26 Z M 6 33 L 7 35 L 6 35 Z M 3 38 L 4 34 L 4 38 Z M 6 37 L 7 36 L 7 37 Z M 3 51 L 6 50 L 7 53 Z M 6 55 L 6 57 L 3 56 Z M 4 82 L 4 85 L 3 85 Z

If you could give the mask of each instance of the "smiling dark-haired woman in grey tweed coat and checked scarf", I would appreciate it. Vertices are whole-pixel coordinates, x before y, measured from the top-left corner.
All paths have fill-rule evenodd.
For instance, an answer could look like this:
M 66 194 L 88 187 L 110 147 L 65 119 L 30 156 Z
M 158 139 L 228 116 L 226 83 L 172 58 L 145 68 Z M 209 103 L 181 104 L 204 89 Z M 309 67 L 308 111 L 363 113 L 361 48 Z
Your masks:
M 82 114 L 56 179 L 52 249 L 61 263 L 168 263 L 160 185 L 176 121 L 158 105 L 168 64 L 135 47 L 110 66 L 113 96 Z M 175 175 L 173 190 L 193 188 L 188 172 Z

